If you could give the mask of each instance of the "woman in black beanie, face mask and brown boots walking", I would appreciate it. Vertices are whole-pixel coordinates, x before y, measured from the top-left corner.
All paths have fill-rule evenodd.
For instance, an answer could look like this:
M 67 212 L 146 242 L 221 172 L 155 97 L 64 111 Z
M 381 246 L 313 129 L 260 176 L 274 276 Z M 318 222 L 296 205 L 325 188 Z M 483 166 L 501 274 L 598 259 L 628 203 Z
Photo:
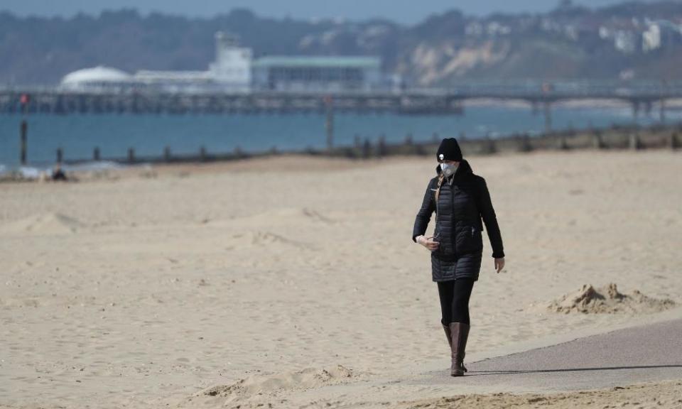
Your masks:
M 414 221 L 412 240 L 431 251 L 431 275 L 438 284 L 445 336 L 450 344 L 450 375 L 462 376 L 469 336 L 469 298 L 478 280 L 483 224 L 488 231 L 497 273 L 504 268 L 502 236 L 485 179 L 472 172 L 455 138 L 445 138 L 436 153 L 436 176 Z M 435 212 L 433 236 L 424 236 Z M 481 223 L 481 219 L 483 223 Z

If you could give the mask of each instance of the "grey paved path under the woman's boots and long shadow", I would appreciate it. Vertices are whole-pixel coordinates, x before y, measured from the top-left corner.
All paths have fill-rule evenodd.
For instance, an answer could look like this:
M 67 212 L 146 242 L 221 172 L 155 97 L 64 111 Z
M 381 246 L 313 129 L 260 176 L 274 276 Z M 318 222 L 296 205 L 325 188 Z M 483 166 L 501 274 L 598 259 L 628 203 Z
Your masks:
M 682 379 L 682 319 L 470 362 L 467 369 L 462 378 L 444 369 L 424 373 L 427 378 L 417 382 L 463 393 L 575 391 Z

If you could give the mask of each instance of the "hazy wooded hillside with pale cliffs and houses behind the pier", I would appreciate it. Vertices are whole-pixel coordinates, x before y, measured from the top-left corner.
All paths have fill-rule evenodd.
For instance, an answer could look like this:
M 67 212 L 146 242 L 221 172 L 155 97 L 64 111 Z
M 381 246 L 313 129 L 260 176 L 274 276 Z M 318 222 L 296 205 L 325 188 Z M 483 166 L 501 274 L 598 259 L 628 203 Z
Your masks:
M 449 11 L 415 26 L 299 21 L 235 9 L 214 18 L 108 11 L 74 18 L 0 13 L 0 84 L 55 84 L 82 67 L 203 70 L 215 31 L 256 55 L 379 55 L 413 84 L 463 79 L 682 79 L 682 2 L 484 18 Z

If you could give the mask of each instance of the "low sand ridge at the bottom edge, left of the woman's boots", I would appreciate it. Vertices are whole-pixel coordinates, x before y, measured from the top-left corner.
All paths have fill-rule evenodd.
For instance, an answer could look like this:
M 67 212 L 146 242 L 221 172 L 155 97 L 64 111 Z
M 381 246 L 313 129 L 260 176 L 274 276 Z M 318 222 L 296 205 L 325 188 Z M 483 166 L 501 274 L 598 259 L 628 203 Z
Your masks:
M 265 402 L 283 394 L 344 383 L 353 376 L 353 371 L 341 365 L 332 369 L 308 368 L 302 371 L 249 376 L 229 385 L 206 388 L 180 406 L 261 407 Z

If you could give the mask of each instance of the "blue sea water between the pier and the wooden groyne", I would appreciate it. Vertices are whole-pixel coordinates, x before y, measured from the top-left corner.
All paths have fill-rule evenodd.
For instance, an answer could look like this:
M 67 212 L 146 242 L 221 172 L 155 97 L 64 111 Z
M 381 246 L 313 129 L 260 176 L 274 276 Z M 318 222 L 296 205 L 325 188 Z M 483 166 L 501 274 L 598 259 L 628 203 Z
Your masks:
M 655 113 L 654 113 L 655 114 Z M 677 116 L 677 118 L 676 118 Z M 668 114 L 670 121 L 680 113 Z M 19 165 L 20 115 L 0 115 L 0 171 L 16 170 Z M 31 114 L 28 121 L 28 165 L 46 167 L 55 162 L 58 148 L 65 160 L 100 156 L 125 158 L 129 148 L 136 156 L 162 156 L 168 147 L 172 154 L 230 153 L 239 147 L 244 152 L 300 151 L 326 146 L 324 114 L 250 114 L 250 115 L 134 115 Z M 654 124 L 657 115 L 640 115 L 640 125 Z M 585 129 L 590 126 L 633 124 L 627 107 L 568 108 L 552 110 L 553 129 Z M 396 114 L 336 114 L 335 146 L 350 146 L 359 136 L 376 143 L 384 136 L 387 143 L 438 138 L 497 137 L 509 133 L 541 133 L 545 127 L 541 113 L 528 107 L 466 107 L 461 116 L 401 116 Z

